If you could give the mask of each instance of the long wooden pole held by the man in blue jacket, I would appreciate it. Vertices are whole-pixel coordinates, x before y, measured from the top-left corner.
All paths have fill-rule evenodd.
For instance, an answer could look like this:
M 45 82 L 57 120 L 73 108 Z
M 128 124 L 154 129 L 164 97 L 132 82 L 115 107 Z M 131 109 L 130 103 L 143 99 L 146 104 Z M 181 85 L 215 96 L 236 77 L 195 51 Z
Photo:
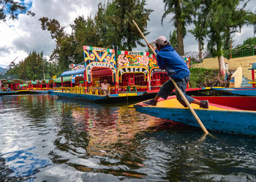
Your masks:
M 137 23 L 135 23 L 135 20 L 132 20 L 132 22 L 135 24 L 135 26 L 138 28 L 138 31 L 140 32 L 140 35 L 143 36 L 143 39 L 146 41 L 146 44 L 149 44 L 146 37 L 143 35 L 142 31 L 140 31 L 140 28 L 138 27 Z M 154 51 L 153 47 L 149 46 L 151 48 L 151 50 L 154 52 L 155 57 L 157 58 L 157 53 Z M 170 76 L 169 76 L 170 77 Z M 185 97 L 184 93 L 179 89 L 178 85 L 176 84 L 176 82 L 170 77 L 170 80 L 173 82 L 174 87 L 176 88 L 176 91 L 178 91 L 179 95 L 181 95 L 181 98 L 184 100 L 184 102 L 186 103 L 186 105 L 189 107 L 189 110 L 191 111 L 191 113 L 193 114 L 193 116 L 195 117 L 195 119 L 197 120 L 198 124 L 200 125 L 200 127 L 202 128 L 203 132 L 205 132 L 206 134 L 208 134 L 209 132 L 206 130 L 206 127 L 203 125 L 203 122 L 201 122 L 201 120 L 199 119 L 199 117 L 197 116 L 197 114 L 195 113 L 194 109 L 192 108 L 192 106 L 190 105 L 189 101 L 187 100 L 187 98 Z

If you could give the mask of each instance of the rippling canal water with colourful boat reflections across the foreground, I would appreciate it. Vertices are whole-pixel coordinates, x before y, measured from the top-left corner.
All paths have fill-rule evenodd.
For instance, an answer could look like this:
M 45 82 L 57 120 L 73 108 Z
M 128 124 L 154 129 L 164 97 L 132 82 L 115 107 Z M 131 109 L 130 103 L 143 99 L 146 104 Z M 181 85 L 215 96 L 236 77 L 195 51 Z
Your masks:
M 256 138 L 53 95 L 0 97 L 0 181 L 256 181 Z

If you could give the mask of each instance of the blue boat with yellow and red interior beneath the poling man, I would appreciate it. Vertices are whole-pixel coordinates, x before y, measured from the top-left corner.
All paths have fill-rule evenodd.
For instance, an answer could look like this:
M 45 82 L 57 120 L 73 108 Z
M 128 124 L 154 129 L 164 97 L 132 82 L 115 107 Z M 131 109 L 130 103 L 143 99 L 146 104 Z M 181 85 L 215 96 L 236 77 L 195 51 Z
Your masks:
M 207 130 L 256 136 L 256 97 L 212 96 L 193 98 L 209 100 L 208 109 L 199 108 L 198 105 L 192 103 L 192 108 Z M 135 108 L 141 113 L 200 127 L 189 109 L 184 108 L 176 96 L 170 96 L 167 100 L 159 100 L 157 106 L 145 106 L 143 103 L 138 103 L 135 104 Z

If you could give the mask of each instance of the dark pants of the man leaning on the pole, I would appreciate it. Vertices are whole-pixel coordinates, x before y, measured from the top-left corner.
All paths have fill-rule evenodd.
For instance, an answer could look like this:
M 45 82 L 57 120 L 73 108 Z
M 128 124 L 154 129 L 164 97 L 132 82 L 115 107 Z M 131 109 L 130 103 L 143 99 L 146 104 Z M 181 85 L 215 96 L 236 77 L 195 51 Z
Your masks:
M 180 88 L 180 90 L 184 93 L 185 97 L 189 101 L 189 103 L 192 103 L 194 98 L 190 97 L 189 95 L 186 95 L 186 88 L 187 88 L 187 82 L 189 82 L 189 76 L 176 80 L 176 84 Z M 157 93 L 157 96 L 163 99 L 167 99 L 167 97 L 170 95 L 171 92 L 175 89 L 173 82 L 169 79 L 167 82 L 165 82 L 162 87 L 160 88 L 159 92 Z M 182 99 L 181 95 L 178 94 L 178 91 L 176 91 L 176 96 L 178 101 L 184 106 L 187 107 L 186 103 Z

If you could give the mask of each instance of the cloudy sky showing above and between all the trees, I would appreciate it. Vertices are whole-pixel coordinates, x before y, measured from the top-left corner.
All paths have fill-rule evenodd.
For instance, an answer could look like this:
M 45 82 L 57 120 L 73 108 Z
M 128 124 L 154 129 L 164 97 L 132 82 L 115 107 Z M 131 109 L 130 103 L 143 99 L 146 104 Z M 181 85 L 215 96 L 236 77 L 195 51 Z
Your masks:
M 70 24 L 75 17 L 94 17 L 97 12 L 97 4 L 104 0 L 17 0 L 26 4 L 26 7 L 34 12 L 34 17 L 20 14 L 18 20 L 0 21 L 0 66 L 7 67 L 12 60 L 18 63 L 36 50 L 43 52 L 45 56 L 50 55 L 55 47 L 55 41 L 51 39 L 48 31 L 42 31 L 40 17 L 55 18 L 65 26 L 65 31 L 71 33 Z M 165 12 L 165 4 L 162 0 L 146 0 L 146 8 L 153 9 L 148 21 L 146 39 L 153 41 L 157 36 L 166 36 L 169 39 L 170 31 L 174 29 L 170 17 L 165 18 L 161 24 L 162 14 Z M 0 4 L 1 8 L 1 4 Z M 251 0 L 247 8 L 256 11 L 256 1 Z M 188 29 L 192 29 L 189 27 Z M 255 36 L 252 26 L 244 26 L 241 33 L 236 33 L 233 45 L 242 44 L 244 40 Z M 81 48 L 82 49 L 82 48 Z M 135 51 L 146 51 L 145 47 L 137 47 Z M 197 41 L 191 33 L 184 38 L 185 52 L 197 52 Z

